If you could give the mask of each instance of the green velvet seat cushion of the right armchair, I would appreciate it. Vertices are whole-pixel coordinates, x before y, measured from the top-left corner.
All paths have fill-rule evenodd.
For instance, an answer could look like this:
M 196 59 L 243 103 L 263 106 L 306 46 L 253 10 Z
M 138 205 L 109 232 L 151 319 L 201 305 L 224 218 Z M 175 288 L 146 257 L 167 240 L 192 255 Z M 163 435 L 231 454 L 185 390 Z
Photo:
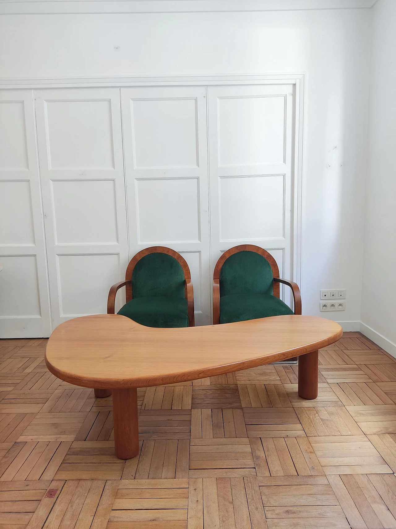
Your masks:
M 294 314 L 286 303 L 269 294 L 231 294 L 220 298 L 220 323 L 242 322 Z

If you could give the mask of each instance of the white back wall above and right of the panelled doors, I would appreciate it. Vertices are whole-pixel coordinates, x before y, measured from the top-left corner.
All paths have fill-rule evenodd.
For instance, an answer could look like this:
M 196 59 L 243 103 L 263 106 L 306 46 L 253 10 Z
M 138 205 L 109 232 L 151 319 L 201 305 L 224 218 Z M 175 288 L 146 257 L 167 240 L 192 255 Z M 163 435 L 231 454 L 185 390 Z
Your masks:
M 305 72 L 303 312 L 319 315 L 321 288 L 346 288 L 346 311 L 326 316 L 354 330 L 370 17 L 368 9 L 6 15 L 0 72 L 3 79 Z

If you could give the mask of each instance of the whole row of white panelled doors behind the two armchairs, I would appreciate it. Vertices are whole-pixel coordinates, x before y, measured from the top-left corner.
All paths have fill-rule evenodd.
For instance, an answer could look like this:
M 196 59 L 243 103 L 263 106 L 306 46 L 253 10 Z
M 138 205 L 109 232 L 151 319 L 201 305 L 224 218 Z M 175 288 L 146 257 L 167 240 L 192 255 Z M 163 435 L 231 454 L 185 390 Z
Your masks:
M 152 245 L 188 262 L 199 325 L 222 251 L 258 244 L 293 278 L 294 97 L 290 84 L 3 92 L 1 337 L 106 312 Z

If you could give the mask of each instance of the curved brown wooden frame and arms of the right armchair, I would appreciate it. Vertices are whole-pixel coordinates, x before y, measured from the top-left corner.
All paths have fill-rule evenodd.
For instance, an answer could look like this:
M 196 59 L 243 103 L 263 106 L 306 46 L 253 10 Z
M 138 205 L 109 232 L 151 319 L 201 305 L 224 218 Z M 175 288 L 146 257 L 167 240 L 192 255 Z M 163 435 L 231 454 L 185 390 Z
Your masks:
M 294 281 L 289 281 L 287 279 L 281 279 L 279 277 L 279 268 L 277 265 L 277 262 L 275 259 L 271 256 L 270 253 L 268 253 L 263 248 L 260 248 L 259 246 L 255 246 L 254 244 L 240 244 L 239 246 L 234 246 L 233 248 L 230 248 L 229 250 L 225 251 L 218 262 L 216 262 L 216 266 L 214 267 L 213 271 L 213 325 L 217 325 L 220 323 L 220 271 L 222 266 L 224 265 L 224 262 L 232 256 L 234 253 L 243 252 L 243 251 L 249 251 L 249 252 L 256 252 L 259 253 L 260 256 L 267 259 L 267 261 L 270 263 L 272 268 L 272 276 L 274 276 L 274 296 L 279 298 L 280 297 L 280 288 L 279 284 L 282 283 L 284 285 L 287 285 L 291 288 L 291 291 L 293 292 L 293 298 L 294 298 L 294 313 L 295 314 L 301 314 L 301 295 L 300 295 L 300 289 L 298 288 L 297 283 Z

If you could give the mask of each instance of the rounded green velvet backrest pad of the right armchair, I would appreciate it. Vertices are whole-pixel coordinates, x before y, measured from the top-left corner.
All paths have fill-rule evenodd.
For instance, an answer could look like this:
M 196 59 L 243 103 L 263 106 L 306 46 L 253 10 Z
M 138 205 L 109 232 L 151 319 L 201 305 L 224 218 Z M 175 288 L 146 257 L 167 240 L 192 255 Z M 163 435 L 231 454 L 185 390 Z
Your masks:
M 233 253 L 220 270 L 220 297 L 230 294 L 273 294 L 272 268 L 259 253 Z

